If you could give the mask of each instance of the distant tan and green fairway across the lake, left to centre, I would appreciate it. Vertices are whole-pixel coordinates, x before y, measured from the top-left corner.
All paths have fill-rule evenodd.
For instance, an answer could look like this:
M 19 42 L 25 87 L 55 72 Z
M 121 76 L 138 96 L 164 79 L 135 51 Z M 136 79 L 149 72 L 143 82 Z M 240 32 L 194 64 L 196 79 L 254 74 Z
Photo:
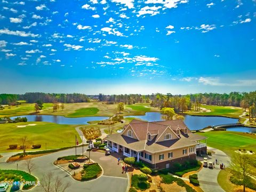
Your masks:
M 34 103 L 21 103 L 21 105 L 5 107 L 0 110 L 0 117 L 11 117 L 20 115 L 31 115 L 35 113 Z M 119 111 L 116 110 L 116 104 L 106 104 L 104 102 L 87 102 L 87 103 L 64 103 L 64 109 L 53 112 L 52 103 L 44 103 L 43 109 L 39 115 L 61 115 L 67 117 L 85 117 L 85 116 L 113 116 Z M 159 111 L 147 104 L 135 104 L 125 106 L 122 115 L 145 115 L 149 111 Z

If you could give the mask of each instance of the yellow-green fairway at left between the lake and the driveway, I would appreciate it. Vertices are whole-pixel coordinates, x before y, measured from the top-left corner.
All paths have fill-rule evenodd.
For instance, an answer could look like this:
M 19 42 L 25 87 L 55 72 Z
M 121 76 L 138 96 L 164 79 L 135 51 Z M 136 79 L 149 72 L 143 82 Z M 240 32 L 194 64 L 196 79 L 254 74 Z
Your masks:
M 17 125 L 36 124 L 35 126 L 17 127 Z M 7 123 L 0 125 L 0 152 L 10 150 L 9 145 L 18 144 L 20 138 L 27 136 L 32 144 L 41 144 L 42 150 L 70 147 L 75 145 L 76 125 L 60 125 L 46 122 Z M 81 138 L 77 137 L 79 143 Z M 33 150 L 33 149 L 28 149 Z M 38 149 L 36 149 L 38 150 Z

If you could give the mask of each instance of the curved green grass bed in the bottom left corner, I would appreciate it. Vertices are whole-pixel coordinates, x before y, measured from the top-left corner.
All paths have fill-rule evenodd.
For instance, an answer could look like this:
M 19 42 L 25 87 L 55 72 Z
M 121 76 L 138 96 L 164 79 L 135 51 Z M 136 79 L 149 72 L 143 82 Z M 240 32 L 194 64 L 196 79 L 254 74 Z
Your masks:
M 25 171 L 1 170 L 0 181 L 37 181 L 37 179 Z M 23 189 L 33 187 L 29 184 L 23 186 Z

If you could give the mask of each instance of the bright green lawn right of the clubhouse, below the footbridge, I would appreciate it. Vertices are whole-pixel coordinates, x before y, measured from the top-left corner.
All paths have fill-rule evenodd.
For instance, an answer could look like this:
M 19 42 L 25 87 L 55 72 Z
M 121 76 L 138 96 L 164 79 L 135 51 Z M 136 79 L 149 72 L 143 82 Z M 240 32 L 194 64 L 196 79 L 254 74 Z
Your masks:
M 208 137 L 207 146 L 223 150 L 229 156 L 237 149 L 256 152 L 256 135 L 231 131 L 209 131 L 196 134 Z

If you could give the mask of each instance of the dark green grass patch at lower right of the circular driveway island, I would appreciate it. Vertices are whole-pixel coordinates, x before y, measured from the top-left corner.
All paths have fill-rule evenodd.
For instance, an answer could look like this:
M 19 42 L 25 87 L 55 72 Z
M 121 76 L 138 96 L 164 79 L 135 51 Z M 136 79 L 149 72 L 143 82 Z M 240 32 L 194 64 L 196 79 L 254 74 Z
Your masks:
M 83 172 L 85 173 L 82 176 L 82 181 L 90 180 L 90 179 L 95 179 L 99 176 L 101 173 L 101 167 L 98 165 L 98 163 L 94 163 L 91 165 L 84 165 L 84 170 Z

